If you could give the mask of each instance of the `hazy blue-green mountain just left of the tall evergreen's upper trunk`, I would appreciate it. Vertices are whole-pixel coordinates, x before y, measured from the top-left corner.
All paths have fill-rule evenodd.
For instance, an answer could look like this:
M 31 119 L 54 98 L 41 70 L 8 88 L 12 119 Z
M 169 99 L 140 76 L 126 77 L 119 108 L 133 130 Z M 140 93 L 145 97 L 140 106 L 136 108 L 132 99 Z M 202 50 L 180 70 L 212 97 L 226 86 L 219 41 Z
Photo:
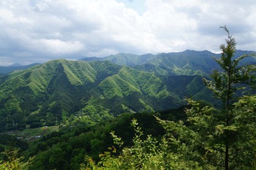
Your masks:
M 212 57 L 219 57 L 209 51 L 183 51 L 161 53 L 155 55 L 148 65 L 137 66 L 144 71 L 154 71 L 160 75 L 201 75 L 207 76 L 212 69 L 217 68 Z

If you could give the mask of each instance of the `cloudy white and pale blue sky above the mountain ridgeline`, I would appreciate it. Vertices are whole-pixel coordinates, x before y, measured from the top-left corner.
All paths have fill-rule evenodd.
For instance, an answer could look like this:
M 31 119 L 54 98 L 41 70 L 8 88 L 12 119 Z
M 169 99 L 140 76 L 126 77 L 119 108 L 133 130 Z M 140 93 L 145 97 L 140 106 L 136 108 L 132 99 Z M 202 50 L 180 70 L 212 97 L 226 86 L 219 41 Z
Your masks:
M 237 49 L 256 51 L 255 0 L 1 0 L 0 65 L 219 52 L 226 25 Z

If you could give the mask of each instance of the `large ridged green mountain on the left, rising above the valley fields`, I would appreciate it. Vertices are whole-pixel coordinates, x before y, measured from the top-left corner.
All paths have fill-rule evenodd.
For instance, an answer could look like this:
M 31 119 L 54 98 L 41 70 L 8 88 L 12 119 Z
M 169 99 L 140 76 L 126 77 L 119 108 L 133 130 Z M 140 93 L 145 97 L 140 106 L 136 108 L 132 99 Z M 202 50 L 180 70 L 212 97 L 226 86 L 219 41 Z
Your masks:
M 46 117 L 48 121 L 62 119 L 81 107 L 80 99 L 97 85 L 98 78 L 115 74 L 120 68 L 110 62 L 52 60 L 1 77 L 2 124 L 12 123 L 14 117 L 29 123 Z

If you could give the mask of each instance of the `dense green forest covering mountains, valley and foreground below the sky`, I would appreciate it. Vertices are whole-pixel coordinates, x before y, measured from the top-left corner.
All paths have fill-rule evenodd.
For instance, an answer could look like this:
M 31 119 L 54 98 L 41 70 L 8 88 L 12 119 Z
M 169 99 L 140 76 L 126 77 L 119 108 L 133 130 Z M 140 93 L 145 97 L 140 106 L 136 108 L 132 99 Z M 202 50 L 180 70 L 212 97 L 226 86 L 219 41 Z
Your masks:
M 4 74 L 0 169 L 255 169 L 256 54 L 235 56 L 221 28 L 208 66 L 112 55 Z

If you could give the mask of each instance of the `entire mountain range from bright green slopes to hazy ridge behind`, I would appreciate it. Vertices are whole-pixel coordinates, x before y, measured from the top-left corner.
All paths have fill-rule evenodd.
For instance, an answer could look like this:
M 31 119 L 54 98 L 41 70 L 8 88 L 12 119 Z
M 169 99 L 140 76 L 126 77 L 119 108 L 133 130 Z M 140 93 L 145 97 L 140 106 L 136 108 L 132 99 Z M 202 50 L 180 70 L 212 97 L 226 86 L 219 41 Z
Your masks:
M 236 55 L 251 51 L 236 51 Z M 119 115 L 184 105 L 184 97 L 213 102 L 202 82 L 218 68 L 208 51 L 116 54 L 65 59 L 0 77 L 0 127 L 60 121 L 73 114 Z M 255 63 L 251 57 L 244 63 Z

